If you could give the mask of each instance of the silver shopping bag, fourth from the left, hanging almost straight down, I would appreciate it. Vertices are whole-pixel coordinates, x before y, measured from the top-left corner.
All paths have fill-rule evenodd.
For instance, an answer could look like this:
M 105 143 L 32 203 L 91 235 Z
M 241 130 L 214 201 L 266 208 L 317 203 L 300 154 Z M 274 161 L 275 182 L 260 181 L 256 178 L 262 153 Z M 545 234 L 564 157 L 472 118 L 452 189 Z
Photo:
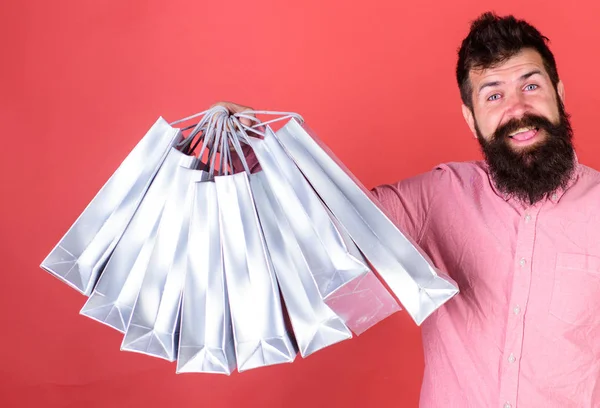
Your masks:
M 195 183 L 177 373 L 231 374 L 235 349 L 214 182 Z

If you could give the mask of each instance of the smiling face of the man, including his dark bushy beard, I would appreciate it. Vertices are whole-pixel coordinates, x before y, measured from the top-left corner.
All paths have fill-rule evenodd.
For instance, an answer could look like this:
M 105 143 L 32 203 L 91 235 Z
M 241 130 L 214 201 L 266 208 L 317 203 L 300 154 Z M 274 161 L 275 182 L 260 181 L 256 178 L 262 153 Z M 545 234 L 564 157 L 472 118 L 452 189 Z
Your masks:
M 490 174 L 504 193 L 535 203 L 565 187 L 575 165 L 572 131 L 541 56 L 523 50 L 504 63 L 472 70 L 473 110 L 463 114 Z

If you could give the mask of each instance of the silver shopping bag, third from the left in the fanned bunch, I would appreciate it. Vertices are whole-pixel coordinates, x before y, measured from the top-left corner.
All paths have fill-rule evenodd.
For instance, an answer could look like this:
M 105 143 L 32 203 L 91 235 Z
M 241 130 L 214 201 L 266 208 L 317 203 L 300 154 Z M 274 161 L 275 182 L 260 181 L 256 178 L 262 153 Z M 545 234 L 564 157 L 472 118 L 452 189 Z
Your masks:
M 169 361 L 177 358 L 192 187 L 207 176 L 202 170 L 182 167 L 172 179 L 121 350 Z

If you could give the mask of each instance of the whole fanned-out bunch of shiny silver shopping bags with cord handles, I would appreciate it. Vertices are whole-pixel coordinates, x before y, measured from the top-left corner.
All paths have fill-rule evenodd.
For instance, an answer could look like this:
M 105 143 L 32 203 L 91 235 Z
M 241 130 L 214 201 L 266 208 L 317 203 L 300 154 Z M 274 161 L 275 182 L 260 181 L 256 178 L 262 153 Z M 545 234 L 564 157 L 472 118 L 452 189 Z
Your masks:
M 230 374 L 458 293 L 299 115 L 267 113 L 159 118 L 42 262 L 122 350 Z

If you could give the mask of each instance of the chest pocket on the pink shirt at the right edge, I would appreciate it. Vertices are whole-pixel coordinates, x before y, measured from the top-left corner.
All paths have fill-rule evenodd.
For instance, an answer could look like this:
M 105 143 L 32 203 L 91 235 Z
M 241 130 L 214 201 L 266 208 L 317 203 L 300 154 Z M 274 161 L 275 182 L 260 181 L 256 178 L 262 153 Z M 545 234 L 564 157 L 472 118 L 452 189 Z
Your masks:
M 576 326 L 600 324 L 600 258 L 559 252 L 549 312 Z

